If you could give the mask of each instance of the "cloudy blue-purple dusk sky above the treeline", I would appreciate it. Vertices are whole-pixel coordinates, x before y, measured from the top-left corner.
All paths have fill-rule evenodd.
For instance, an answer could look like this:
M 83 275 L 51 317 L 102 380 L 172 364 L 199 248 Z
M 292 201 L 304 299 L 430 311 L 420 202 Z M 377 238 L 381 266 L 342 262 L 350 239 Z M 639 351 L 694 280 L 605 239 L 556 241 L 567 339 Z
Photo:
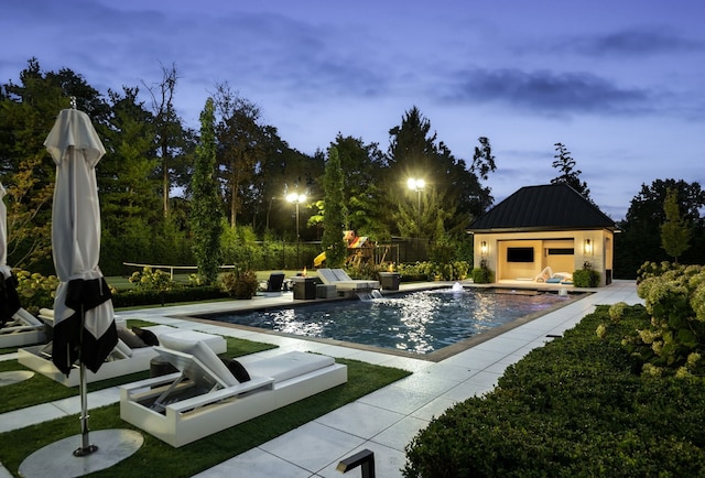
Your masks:
M 479 137 L 499 203 L 547 184 L 555 143 L 621 220 L 642 185 L 705 187 L 702 0 L 3 0 L 0 83 L 28 61 L 106 94 L 178 75 L 186 126 L 218 84 L 293 149 L 378 143 L 416 107 L 469 165 Z

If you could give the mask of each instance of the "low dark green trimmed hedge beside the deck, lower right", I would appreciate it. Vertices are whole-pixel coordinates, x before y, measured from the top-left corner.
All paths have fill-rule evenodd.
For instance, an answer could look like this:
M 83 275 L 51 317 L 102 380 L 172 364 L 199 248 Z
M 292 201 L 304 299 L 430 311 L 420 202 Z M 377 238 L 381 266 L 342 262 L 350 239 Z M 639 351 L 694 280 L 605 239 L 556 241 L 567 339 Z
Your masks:
M 620 341 L 649 323 L 644 307 L 600 339 L 607 321 L 597 307 L 435 419 L 408 445 L 404 476 L 705 476 L 703 380 L 640 377 Z

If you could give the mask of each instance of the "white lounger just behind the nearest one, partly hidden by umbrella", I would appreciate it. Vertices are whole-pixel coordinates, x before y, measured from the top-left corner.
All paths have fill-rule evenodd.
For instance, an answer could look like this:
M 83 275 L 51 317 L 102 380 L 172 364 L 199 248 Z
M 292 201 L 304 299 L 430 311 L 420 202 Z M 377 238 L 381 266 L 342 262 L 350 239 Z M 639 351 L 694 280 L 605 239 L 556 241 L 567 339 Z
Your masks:
M 174 335 L 191 340 L 203 340 L 213 348 L 216 354 L 225 354 L 227 351 L 226 339 L 219 335 L 180 329 L 167 325 L 155 325 L 144 327 L 144 329 L 152 332 L 160 343 L 165 336 Z M 98 372 L 94 373 L 90 370 L 86 370 L 86 380 L 90 383 L 149 370 L 152 359 L 158 356 L 159 354 L 154 350 L 154 347 L 130 348 L 124 341 L 118 339 L 118 345 L 108 357 L 108 360 L 100 366 Z M 42 373 L 65 387 L 78 387 L 79 384 L 80 374 L 78 373 L 77 367 L 74 372 L 66 377 L 54 366 L 51 346 L 48 345 L 19 349 L 18 361 L 24 367 Z

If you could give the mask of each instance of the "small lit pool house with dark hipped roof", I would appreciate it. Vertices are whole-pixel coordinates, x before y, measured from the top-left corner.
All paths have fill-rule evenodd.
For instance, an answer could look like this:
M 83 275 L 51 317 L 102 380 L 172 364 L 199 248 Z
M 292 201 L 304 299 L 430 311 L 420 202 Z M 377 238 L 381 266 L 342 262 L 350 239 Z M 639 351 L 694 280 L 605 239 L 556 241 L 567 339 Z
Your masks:
M 525 186 L 477 218 L 476 267 L 496 281 L 560 282 L 585 263 L 611 283 L 617 225 L 567 184 Z

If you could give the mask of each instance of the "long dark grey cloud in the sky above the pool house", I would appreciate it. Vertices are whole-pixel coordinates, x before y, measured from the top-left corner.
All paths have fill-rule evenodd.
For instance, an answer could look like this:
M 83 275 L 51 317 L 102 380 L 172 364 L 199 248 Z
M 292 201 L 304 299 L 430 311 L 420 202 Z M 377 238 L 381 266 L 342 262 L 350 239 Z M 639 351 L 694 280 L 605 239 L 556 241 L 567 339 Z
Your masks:
M 443 96 L 447 101 L 501 102 L 549 116 L 643 112 L 653 101 L 648 90 L 621 88 L 590 73 L 517 68 L 456 72 Z

